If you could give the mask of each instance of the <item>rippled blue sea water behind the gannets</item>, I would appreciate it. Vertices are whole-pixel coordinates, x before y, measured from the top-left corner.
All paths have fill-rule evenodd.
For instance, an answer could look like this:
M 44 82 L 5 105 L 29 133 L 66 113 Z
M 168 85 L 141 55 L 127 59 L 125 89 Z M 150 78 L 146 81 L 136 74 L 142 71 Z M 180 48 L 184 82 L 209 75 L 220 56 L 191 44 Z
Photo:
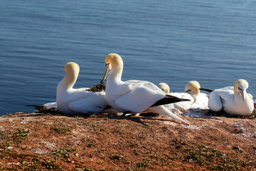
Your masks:
M 122 80 L 168 83 L 182 92 L 233 86 L 256 97 L 256 1 L 1 1 L 0 115 L 55 101 L 65 63 L 80 66 L 75 88 L 100 83 L 108 53 Z

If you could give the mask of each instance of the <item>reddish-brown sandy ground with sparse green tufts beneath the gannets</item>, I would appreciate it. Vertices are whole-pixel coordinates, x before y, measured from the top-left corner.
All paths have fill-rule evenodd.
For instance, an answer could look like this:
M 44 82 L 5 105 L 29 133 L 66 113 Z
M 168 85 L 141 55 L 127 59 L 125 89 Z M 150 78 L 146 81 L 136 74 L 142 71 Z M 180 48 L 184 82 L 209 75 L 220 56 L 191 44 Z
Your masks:
M 256 119 L 225 115 L 0 118 L 1 170 L 256 170 Z M 190 115 L 191 117 L 188 117 Z

